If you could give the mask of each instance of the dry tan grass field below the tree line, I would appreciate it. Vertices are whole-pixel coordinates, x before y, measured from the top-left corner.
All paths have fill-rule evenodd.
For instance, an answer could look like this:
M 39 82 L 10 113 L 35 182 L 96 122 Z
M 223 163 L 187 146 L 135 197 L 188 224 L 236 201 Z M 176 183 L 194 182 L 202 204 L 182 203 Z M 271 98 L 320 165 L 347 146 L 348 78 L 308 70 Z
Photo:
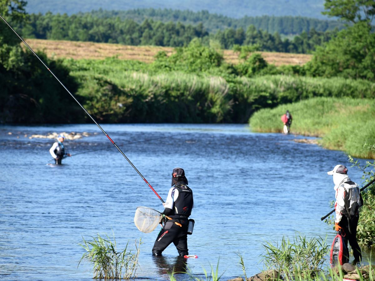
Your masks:
M 117 56 L 121 60 L 138 60 L 151 63 L 154 55 L 165 51 L 168 55 L 174 52 L 172 47 L 159 46 L 127 46 L 120 44 L 76 42 L 64 40 L 26 39 L 26 43 L 34 50 L 44 51 L 50 58 L 104 59 Z M 229 63 L 238 63 L 238 55 L 232 50 L 224 50 L 224 59 Z M 261 52 L 263 58 L 271 64 L 302 65 L 311 60 L 311 55 L 289 54 L 278 52 Z

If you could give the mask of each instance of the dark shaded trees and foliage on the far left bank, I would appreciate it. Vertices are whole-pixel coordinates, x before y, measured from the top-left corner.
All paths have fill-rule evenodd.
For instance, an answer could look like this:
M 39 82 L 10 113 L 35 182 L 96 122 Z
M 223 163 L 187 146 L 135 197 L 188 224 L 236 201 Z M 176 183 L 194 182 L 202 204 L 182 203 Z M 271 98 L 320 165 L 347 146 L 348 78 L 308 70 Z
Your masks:
M 0 3 L 1 13 L 10 24 L 26 20 L 25 1 L 1 0 Z M 21 48 L 20 40 L 5 22 L 0 22 L 0 29 L 0 120 L 9 123 L 70 122 L 70 115 L 79 109 L 71 105 L 66 91 L 30 51 Z M 37 55 L 75 92 L 77 84 L 60 61 L 50 60 L 42 52 Z

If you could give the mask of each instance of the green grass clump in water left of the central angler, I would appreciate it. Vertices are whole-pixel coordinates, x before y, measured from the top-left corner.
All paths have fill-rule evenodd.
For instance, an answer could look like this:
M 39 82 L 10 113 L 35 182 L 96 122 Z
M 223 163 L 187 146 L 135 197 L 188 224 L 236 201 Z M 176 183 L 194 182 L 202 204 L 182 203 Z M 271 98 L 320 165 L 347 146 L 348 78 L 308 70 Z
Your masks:
M 86 252 L 80 259 L 87 260 L 93 265 L 94 279 L 130 279 L 135 278 L 136 269 L 138 268 L 139 246 L 141 240 L 135 241 L 135 252 L 128 250 L 128 244 L 121 252 L 117 251 L 116 240 L 113 234 L 113 242 L 110 236 L 105 234 L 105 238 L 97 234 L 93 241 L 87 241 L 83 238 L 80 244 Z

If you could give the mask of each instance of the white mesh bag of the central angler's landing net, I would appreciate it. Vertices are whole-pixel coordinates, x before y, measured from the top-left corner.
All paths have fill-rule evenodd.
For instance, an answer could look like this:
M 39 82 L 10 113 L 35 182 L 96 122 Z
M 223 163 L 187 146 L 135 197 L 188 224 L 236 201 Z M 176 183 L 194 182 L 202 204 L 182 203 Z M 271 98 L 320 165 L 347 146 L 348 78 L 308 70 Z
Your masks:
M 147 207 L 137 207 L 134 215 L 135 226 L 144 233 L 153 231 L 162 219 L 162 214 Z

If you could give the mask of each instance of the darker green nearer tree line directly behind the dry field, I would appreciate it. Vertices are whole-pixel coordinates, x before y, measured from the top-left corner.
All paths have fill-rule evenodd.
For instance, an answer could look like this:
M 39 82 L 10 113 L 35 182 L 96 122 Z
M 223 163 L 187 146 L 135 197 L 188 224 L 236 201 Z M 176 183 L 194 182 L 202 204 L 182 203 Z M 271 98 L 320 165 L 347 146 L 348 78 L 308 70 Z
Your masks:
M 19 24 L 18 30 L 24 37 L 53 40 L 90 41 L 120 43 L 124 45 L 186 46 L 194 38 L 204 45 L 219 43 L 221 48 L 231 49 L 234 45 L 256 45 L 260 51 L 310 53 L 316 45 L 328 42 L 338 31 L 303 31 L 293 40 L 282 39 L 279 33 L 270 34 L 250 25 L 246 30 L 226 28 L 209 33 L 202 23 L 184 25 L 181 22 L 162 22 L 145 19 L 141 24 L 133 19 L 94 16 L 90 13 L 31 14 L 28 22 Z

